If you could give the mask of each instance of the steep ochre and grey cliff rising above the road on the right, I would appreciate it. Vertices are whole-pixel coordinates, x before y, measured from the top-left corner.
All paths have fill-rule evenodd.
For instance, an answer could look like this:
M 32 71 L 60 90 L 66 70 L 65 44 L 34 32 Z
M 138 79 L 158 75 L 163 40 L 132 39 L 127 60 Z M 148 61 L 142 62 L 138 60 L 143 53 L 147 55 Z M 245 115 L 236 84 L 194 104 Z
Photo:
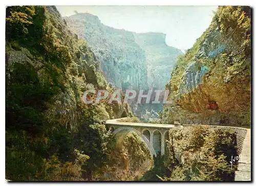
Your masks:
M 225 16 L 224 16 L 225 15 Z M 219 7 L 178 59 L 164 117 L 183 123 L 250 125 L 250 7 Z

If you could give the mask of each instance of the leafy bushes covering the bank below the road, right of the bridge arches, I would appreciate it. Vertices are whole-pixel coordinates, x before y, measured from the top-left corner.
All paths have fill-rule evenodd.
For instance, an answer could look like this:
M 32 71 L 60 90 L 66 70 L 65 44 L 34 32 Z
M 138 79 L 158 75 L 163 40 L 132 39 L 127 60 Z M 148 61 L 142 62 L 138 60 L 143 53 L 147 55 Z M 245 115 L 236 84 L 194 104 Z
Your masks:
M 231 181 L 231 155 L 237 156 L 237 139 L 228 129 L 192 126 L 169 131 L 167 154 L 158 178 L 164 181 Z M 165 169 L 164 169 L 165 168 Z

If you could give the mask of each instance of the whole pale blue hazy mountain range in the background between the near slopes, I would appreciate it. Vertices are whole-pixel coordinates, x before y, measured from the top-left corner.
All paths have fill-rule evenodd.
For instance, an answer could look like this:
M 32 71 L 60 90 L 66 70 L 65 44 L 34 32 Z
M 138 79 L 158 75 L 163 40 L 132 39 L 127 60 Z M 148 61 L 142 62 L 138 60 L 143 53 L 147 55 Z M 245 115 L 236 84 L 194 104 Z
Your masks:
M 65 17 L 69 28 L 92 46 L 106 79 L 118 88 L 164 88 L 182 52 L 165 43 L 165 34 L 137 34 L 102 24 L 97 16 Z M 161 81 L 159 81 L 161 79 Z

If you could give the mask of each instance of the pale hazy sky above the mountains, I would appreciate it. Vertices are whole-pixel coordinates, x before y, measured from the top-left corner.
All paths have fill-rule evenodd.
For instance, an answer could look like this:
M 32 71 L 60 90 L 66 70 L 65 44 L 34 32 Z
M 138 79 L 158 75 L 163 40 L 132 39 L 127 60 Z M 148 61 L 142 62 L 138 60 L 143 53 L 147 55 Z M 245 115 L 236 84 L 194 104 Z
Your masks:
M 62 16 L 97 15 L 105 25 L 137 33 L 161 32 L 166 44 L 185 50 L 209 26 L 217 6 L 56 6 Z

